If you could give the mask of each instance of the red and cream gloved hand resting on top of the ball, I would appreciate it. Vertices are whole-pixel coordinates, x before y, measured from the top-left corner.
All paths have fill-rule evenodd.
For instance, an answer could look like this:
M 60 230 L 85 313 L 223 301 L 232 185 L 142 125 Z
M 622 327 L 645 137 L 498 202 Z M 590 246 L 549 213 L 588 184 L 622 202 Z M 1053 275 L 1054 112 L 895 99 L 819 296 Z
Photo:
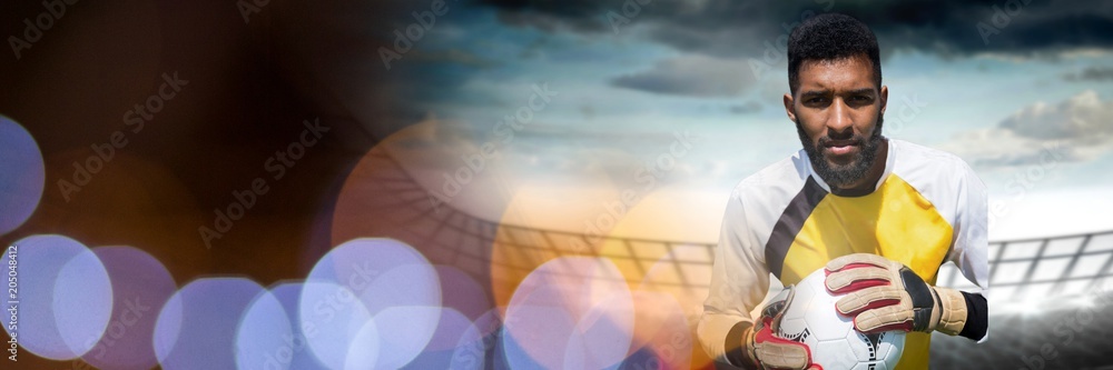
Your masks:
M 835 308 L 854 316 L 860 332 L 938 330 L 956 336 L 966 324 L 962 292 L 932 287 L 900 262 L 857 253 L 827 262 L 826 272 L 827 290 L 846 293 Z

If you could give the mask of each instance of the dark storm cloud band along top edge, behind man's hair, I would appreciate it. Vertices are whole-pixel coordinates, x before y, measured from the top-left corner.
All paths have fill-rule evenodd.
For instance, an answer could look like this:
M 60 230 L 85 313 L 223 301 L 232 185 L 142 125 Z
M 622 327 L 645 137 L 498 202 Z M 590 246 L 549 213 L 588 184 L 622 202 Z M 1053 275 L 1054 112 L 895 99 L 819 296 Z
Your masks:
M 500 19 L 545 30 L 612 32 L 608 12 L 629 1 L 489 0 Z M 627 6 L 632 9 L 631 7 Z M 1041 0 L 999 1 L 649 1 L 623 28 L 643 26 L 651 38 L 679 50 L 720 57 L 755 57 L 776 46 L 794 23 L 838 11 L 869 24 L 883 49 L 916 49 L 944 56 L 1001 52 L 1053 54 L 1073 48 L 1113 46 L 1113 3 Z M 620 29 L 621 30 L 621 29 Z

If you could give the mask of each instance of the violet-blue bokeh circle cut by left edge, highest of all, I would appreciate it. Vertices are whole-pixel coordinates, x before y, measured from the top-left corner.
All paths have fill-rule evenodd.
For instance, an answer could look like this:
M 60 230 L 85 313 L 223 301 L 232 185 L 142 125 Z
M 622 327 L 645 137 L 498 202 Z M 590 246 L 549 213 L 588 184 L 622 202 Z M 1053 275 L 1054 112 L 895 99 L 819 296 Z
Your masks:
M 35 138 L 0 116 L 0 234 L 27 221 L 42 198 L 46 167 Z

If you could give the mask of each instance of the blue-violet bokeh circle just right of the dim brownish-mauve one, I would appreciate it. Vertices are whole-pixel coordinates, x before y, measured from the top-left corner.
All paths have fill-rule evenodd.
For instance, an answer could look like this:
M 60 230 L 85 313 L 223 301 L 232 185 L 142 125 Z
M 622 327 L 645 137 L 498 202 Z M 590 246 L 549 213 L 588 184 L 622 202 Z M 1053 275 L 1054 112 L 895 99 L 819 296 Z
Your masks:
M 235 369 L 239 319 L 265 290 L 243 278 L 205 278 L 183 287 L 155 324 L 162 369 Z

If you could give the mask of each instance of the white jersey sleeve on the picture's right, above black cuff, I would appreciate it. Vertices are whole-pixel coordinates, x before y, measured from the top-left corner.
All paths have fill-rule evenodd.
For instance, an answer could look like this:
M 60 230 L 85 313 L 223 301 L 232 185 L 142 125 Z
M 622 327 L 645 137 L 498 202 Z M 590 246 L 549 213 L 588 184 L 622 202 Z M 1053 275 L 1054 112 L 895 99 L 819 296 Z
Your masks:
M 974 170 L 962 160 L 958 162 L 963 176 L 958 184 L 956 232 L 949 260 L 958 267 L 967 280 L 982 288 L 979 292 L 973 293 L 981 294 L 982 302 L 985 302 L 989 293 L 988 197 L 985 184 Z M 978 313 L 987 314 L 985 310 Z M 988 337 L 986 330 L 978 341 L 983 342 Z

